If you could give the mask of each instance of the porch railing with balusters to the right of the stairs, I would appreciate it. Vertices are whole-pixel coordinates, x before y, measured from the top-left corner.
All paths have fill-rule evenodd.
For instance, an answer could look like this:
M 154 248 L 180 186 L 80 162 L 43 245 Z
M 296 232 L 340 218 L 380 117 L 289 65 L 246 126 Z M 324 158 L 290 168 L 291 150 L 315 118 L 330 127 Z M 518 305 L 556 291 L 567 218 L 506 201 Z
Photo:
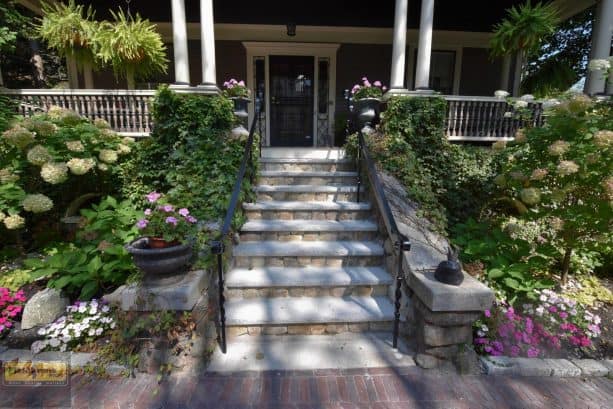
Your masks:
M 543 106 L 538 102 L 530 102 L 524 112 L 519 112 L 501 98 L 443 98 L 447 101 L 445 134 L 450 141 L 510 140 L 519 128 L 543 124 Z

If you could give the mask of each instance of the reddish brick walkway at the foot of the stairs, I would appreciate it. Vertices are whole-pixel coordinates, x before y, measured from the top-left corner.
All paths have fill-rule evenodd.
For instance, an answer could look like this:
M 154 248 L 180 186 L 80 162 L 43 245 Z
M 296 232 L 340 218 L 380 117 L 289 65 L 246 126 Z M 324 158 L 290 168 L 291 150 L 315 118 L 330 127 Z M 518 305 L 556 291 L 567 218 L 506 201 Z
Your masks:
M 4 389 L 0 407 L 57 406 L 53 396 L 43 395 L 30 388 Z M 47 399 L 45 404 L 42 399 Z M 72 378 L 72 407 L 611 408 L 613 381 L 459 376 L 416 367 L 177 374 L 159 385 L 151 375 L 95 381 L 77 375 Z

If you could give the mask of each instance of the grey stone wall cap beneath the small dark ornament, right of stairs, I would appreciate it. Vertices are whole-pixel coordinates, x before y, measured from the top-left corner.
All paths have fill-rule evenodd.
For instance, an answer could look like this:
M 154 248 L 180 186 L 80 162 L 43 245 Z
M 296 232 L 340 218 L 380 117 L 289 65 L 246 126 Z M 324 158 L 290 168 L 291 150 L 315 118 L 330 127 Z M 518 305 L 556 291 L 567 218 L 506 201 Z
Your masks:
M 405 253 L 405 264 L 408 265 Z M 441 283 L 434 278 L 434 270 L 411 271 L 408 285 L 431 311 L 484 311 L 492 306 L 494 292 L 485 284 L 464 273 L 459 286 Z

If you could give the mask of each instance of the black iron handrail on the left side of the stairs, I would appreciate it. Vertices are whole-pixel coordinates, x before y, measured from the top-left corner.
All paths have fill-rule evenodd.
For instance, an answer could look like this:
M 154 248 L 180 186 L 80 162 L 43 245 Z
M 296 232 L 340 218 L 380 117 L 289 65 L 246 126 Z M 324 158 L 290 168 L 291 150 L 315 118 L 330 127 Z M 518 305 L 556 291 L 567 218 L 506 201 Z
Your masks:
M 238 205 L 238 199 L 241 193 L 241 187 L 243 185 L 243 179 L 245 178 L 245 173 L 247 172 L 247 163 L 251 165 L 251 177 L 254 177 L 255 166 L 253 162 L 253 138 L 255 134 L 255 125 L 260 115 L 260 103 L 256 102 L 255 105 L 255 114 L 253 115 L 253 120 L 251 121 L 251 126 L 249 127 L 249 137 L 247 138 L 247 145 L 245 146 L 245 152 L 243 154 L 243 159 L 241 161 L 241 166 L 238 170 L 238 174 L 236 176 L 236 181 L 234 182 L 234 188 L 232 190 L 232 197 L 230 198 L 230 205 L 228 206 L 228 211 L 226 212 L 226 217 L 224 219 L 223 226 L 221 227 L 219 238 L 211 243 L 211 252 L 217 256 L 217 285 L 218 285 L 218 295 L 219 295 L 219 313 L 218 313 L 218 325 L 219 325 L 219 344 L 221 347 L 221 352 L 224 354 L 227 350 L 226 343 L 226 309 L 225 309 L 225 297 L 224 297 L 224 271 L 223 271 L 223 255 L 225 253 L 225 245 L 224 239 L 230 233 L 230 228 L 232 226 L 232 219 L 234 218 L 234 213 L 236 212 L 236 206 Z M 260 136 L 261 139 L 261 136 Z M 261 150 L 260 143 L 260 150 Z M 260 152 L 261 155 L 261 152 Z M 253 179 L 252 179 L 253 182 Z

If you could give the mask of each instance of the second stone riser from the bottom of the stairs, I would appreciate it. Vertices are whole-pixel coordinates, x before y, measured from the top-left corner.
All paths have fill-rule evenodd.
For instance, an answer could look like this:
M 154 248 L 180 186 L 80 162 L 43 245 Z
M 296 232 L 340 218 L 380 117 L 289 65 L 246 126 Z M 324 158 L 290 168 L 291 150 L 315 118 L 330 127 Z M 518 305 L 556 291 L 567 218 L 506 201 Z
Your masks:
M 272 297 L 344 297 L 386 296 L 387 285 L 355 285 L 342 287 L 274 287 L 274 288 L 227 288 L 226 299 L 272 298 Z

